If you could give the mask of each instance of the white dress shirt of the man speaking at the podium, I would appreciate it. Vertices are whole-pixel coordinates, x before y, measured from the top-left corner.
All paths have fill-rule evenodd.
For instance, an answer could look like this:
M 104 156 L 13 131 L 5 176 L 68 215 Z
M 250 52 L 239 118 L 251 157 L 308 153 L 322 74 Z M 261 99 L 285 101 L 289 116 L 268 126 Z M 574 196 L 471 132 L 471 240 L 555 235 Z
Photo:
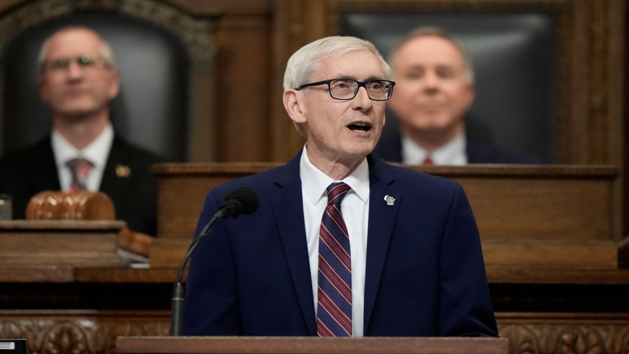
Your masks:
M 308 159 L 304 146 L 299 162 L 301 193 L 304 203 L 304 223 L 310 261 L 310 276 L 317 312 L 317 285 L 319 273 L 319 229 L 325 207 L 328 205 L 326 188 L 335 182 L 317 169 Z M 364 159 L 352 174 L 342 180 L 352 189 L 341 202 L 341 214 L 350 236 L 352 256 L 352 336 L 363 336 L 365 312 L 365 267 L 367 266 L 367 227 L 369 225 L 369 164 Z

